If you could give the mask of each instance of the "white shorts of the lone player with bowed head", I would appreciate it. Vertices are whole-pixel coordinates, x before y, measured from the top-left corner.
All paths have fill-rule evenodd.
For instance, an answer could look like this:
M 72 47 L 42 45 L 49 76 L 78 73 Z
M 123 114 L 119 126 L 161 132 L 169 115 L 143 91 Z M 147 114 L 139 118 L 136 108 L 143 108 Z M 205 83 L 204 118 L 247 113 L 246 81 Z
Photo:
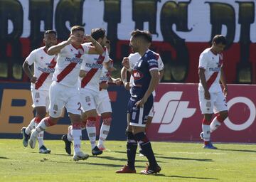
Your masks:
M 198 97 L 202 114 L 212 114 L 228 110 L 223 92 L 212 92 L 210 93 L 210 100 L 206 100 L 204 91 L 198 91 Z

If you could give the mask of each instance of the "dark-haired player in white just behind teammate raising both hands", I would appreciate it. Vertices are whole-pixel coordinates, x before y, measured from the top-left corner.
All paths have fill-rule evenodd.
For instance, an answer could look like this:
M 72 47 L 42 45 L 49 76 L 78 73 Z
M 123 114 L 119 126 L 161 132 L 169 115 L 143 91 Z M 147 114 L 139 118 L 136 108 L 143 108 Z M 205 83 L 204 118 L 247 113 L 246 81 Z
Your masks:
M 100 93 L 100 75 L 102 67 L 110 61 L 109 53 L 105 47 L 107 41 L 106 31 L 103 28 L 92 29 L 91 36 L 102 45 L 104 55 L 85 55 L 85 64 L 80 71 L 81 84 L 80 96 L 82 104 L 82 119 L 86 119 L 86 130 L 92 148 L 92 155 L 100 155 L 102 151 L 96 145 L 96 117 L 97 96 Z M 86 73 L 86 74 L 84 74 Z M 112 117 L 102 118 L 103 122 L 110 125 Z

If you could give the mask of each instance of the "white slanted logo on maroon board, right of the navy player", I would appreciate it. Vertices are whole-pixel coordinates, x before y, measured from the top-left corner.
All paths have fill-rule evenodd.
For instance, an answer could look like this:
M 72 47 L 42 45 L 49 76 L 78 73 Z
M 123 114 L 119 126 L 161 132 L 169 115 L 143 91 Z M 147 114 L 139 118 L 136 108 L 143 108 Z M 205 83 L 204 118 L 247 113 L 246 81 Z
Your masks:
M 183 92 L 166 92 L 159 102 L 154 102 L 152 123 L 161 123 L 159 133 L 173 133 L 182 119 L 193 116 L 196 108 L 188 108 L 189 101 L 181 101 Z

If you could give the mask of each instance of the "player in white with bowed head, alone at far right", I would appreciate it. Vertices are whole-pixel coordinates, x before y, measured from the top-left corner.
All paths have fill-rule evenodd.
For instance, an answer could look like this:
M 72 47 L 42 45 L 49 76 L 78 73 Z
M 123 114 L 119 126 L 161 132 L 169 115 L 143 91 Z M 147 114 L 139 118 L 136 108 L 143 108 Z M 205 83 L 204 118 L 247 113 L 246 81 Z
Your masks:
M 217 149 L 210 141 L 210 132 L 220 127 L 220 124 L 228 117 L 228 107 L 225 99 L 228 95 L 228 87 L 223 72 L 222 55 L 225 45 L 225 36 L 216 35 L 213 38 L 212 46 L 203 50 L 199 57 L 198 97 L 201 112 L 204 115 L 203 132 L 200 136 L 204 141 L 204 149 Z M 219 82 L 223 85 L 223 91 Z M 216 117 L 211 122 L 213 113 L 216 114 Z

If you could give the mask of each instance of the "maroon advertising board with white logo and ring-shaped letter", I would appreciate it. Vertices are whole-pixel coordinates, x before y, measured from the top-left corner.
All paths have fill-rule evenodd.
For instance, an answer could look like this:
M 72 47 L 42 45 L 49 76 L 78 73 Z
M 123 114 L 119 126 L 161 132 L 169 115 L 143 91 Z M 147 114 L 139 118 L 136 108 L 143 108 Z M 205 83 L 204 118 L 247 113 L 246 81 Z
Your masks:
M 149 137 L 157 141 L 198 141 L 203 115 L 197 84 L 161 84 L 157 87 Z M 213 141 L 256 142 L 256 85 L 228 85 L 228 112 Z

